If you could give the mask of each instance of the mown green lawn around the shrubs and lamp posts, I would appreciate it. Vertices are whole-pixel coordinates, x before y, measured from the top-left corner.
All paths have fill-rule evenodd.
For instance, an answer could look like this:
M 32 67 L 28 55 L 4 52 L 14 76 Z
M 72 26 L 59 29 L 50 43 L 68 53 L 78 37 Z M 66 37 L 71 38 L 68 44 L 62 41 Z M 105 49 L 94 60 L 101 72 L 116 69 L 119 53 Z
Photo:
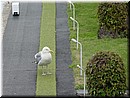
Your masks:
M 98 39 L 98 2 L 74 3 L 76 9 L 76 20 L 79 22 L 79 42 L 83 45 L 83 68 L 86 67 L 88 60 L 98 51 L 113 51 L 123 59 L 128 85 L 128 39 Z M 72 11 L 68 4 L 68 19 L 72 15 Z M 70 40 L 76 39 L 76 31 L 73 30 L 72 21 L 69 19 Z M 76 50 L 76 43 L 70 42 L 72 52 L 72 65 L 79 64 L 79 50 Z M 75 89 L 83 89 L 83 76 L 80 76 L 80 70 L 73 68 L 75 78 Z

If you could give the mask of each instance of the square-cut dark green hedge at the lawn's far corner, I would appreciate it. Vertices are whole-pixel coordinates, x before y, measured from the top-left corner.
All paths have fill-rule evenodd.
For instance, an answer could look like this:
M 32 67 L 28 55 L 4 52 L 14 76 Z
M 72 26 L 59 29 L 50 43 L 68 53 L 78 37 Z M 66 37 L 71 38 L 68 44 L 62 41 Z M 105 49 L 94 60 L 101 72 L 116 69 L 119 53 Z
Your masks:
M 100 3 L 98 38 L 128 37 L 128 3 Z

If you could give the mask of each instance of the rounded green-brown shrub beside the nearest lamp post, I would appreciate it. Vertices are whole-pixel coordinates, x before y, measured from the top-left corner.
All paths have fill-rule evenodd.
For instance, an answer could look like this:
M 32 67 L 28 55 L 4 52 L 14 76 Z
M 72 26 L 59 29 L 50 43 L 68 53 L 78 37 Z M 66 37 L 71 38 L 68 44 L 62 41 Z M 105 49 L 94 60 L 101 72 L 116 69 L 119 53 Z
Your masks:
M 86 81 L 92 96 L 123 96 L 127 87 L 121 57 L 114 52 L 97 52 L 87 63 Z

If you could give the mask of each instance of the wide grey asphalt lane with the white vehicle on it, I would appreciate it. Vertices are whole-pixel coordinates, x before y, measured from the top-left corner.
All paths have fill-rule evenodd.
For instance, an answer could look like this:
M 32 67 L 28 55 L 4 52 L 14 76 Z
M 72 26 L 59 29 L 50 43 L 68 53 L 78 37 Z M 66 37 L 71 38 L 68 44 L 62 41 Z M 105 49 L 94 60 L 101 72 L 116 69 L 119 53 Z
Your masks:
M 10 13 L 3 36 L 2 96 L 35 96 L 41 2 L 20 2 L 20 16 Z

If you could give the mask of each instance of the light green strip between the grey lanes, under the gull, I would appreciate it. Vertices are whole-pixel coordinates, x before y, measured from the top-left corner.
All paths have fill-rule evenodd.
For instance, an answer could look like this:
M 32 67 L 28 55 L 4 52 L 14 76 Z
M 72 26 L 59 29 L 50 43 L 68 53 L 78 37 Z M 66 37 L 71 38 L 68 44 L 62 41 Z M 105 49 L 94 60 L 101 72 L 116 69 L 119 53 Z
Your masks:
M 52 62 L 49 64 L 51 75 L 42 76 L 42 67 L 37 68 L 36 96 L 56 96 L 56 61 L 55 61 L 55 3 L 43 2 L 40 46 L 41 51 L 44 46 L 50 47 L 54 51 Z

